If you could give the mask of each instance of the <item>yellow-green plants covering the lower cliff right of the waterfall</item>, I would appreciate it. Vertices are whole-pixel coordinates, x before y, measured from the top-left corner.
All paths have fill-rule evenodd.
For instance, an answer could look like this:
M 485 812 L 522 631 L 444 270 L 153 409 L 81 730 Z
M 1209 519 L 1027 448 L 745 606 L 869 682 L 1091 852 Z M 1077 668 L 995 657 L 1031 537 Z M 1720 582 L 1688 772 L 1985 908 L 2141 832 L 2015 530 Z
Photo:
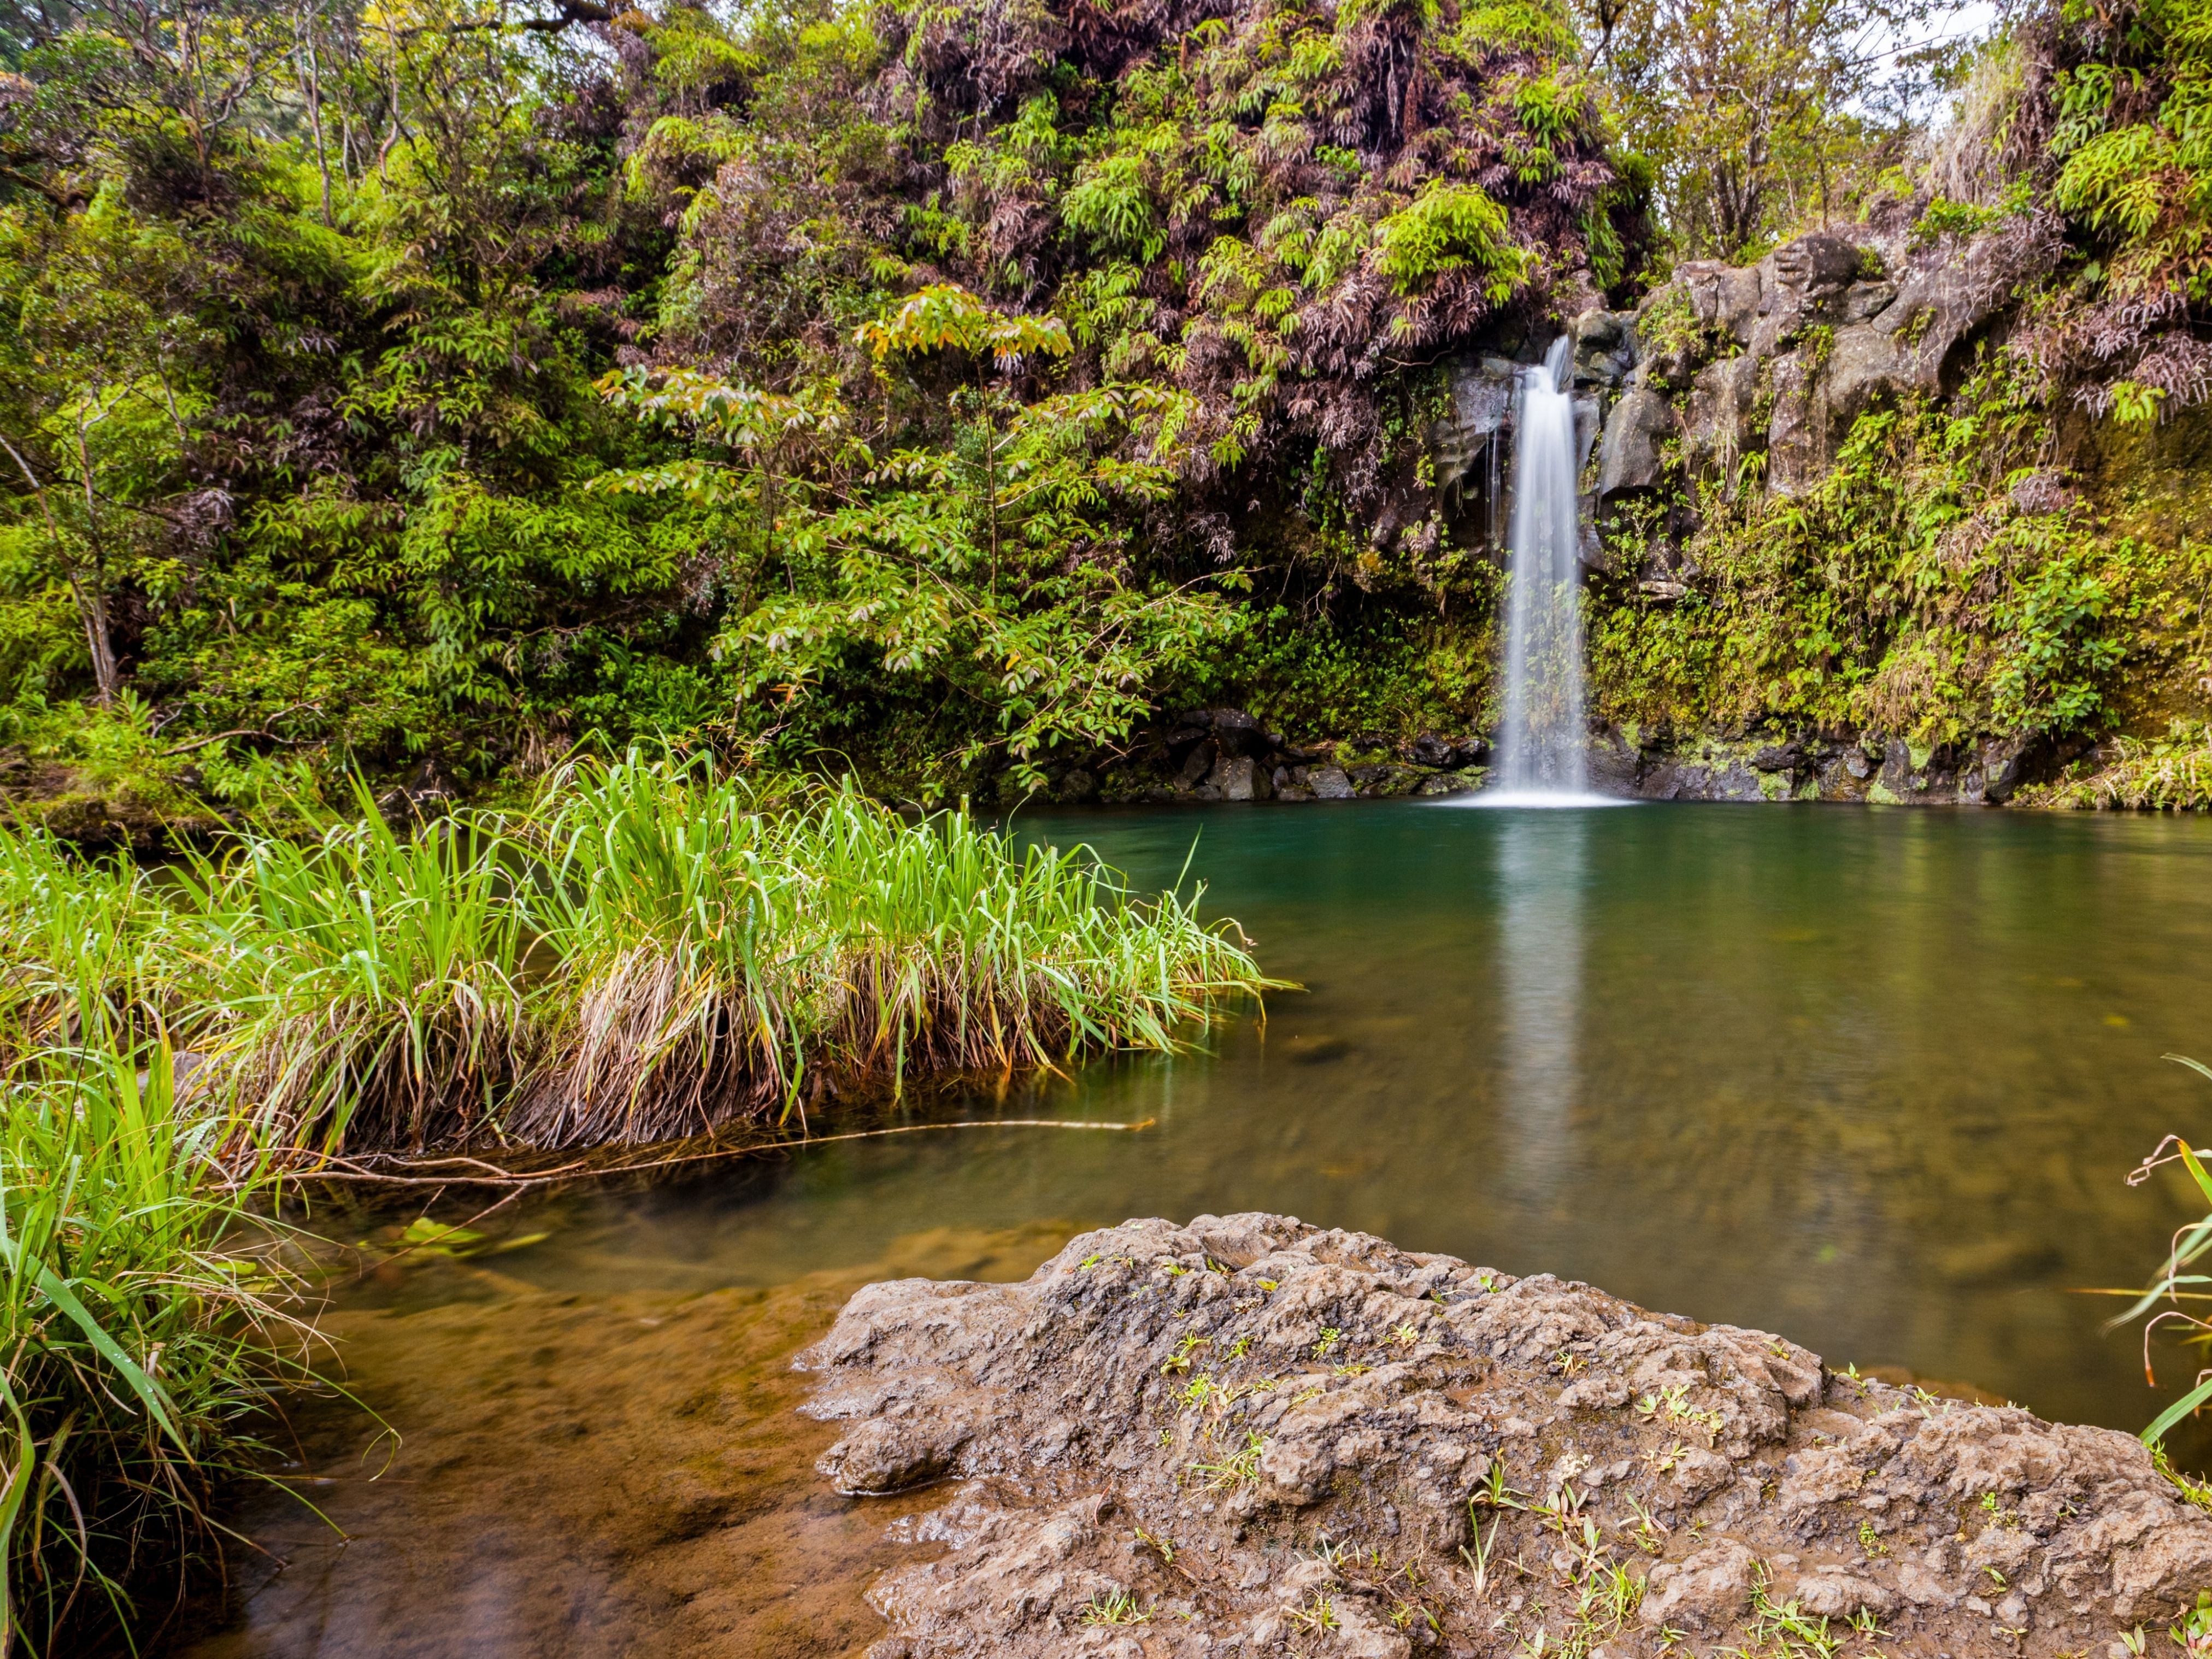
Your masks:
M 1944 407 L 1860 416 L 1801 498 L 1705 487 L 1699 580 L 1668 604 L 1597 604 L 1599 701 L 1646 728 L 1778 721 L 1931 745 L 2104 730 L 2161 573 L 2079 502 L 2015 504 L 2046 422 L 2035 374 L 2000 352 Z

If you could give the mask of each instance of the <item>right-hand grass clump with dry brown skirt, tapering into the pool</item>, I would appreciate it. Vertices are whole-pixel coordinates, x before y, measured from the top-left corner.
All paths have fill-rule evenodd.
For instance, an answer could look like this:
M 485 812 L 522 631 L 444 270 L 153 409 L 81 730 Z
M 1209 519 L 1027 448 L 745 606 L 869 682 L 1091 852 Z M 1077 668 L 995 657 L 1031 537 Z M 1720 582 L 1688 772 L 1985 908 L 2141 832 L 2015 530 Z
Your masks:
M 540 1146 L 787 1113 L 807 1079 L 1175 1048 L 1267 982 L 1194 898 L 1137 905 L 1086 854 L 854 794 L 761 803 L 637 757 L 566 781 L 540 900 L 546 1048 L 511 1130 Z

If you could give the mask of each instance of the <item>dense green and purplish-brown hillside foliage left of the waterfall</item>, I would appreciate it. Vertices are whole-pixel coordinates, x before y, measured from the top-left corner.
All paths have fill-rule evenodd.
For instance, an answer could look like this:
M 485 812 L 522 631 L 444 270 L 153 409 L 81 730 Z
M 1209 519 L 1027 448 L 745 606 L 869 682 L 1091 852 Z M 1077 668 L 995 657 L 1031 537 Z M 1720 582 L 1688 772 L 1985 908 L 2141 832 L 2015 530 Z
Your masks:
M 962 7 L 126 11 L 0 104 L 0 723 L 146 799 L 650 734 L 1029 787 L 1347 524 L 1427 599 L 1427 361 L 1641 248 L 1544 7 L 1035 9 L 973 75 Z

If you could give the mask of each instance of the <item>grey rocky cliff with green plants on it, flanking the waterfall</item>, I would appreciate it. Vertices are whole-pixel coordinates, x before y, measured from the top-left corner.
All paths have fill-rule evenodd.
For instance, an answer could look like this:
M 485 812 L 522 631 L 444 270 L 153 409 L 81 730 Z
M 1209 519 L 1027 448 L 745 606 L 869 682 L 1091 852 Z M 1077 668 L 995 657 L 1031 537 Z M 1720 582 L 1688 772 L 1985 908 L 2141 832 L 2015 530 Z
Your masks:
M 2121 511 L 2172 493 L 2172 456 L 2101 465 L 2115 429 L 2037 367 L 2059 226 L 1984 219 L 1931 230 L 1891 201 L 1573 319 L 1601 787 L 2000 803 L 2185 712 L 2188 524 Z M 1493 549 L 1511 356 L 1453 365 L 1433 440 L 1460 535 Z M 1845 453 L 1867 416 L 1896 453 Z M 1905 478 L 1927 451 L 1951 471 Z M 1838 487 L 1840 460 L 1867 476 Z

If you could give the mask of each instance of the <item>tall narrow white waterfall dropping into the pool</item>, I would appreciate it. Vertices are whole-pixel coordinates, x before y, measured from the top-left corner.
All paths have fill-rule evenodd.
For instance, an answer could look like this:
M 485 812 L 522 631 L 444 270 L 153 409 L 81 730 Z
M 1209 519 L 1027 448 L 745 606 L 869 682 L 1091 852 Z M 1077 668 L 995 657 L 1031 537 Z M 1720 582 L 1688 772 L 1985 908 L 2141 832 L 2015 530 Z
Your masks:
M 1506 730 L 1498 792 L 1588 796 L 1582 714 L 1582 526 L 1575 522 L 1573 341 L 1520 376 L 1506 575 Z

